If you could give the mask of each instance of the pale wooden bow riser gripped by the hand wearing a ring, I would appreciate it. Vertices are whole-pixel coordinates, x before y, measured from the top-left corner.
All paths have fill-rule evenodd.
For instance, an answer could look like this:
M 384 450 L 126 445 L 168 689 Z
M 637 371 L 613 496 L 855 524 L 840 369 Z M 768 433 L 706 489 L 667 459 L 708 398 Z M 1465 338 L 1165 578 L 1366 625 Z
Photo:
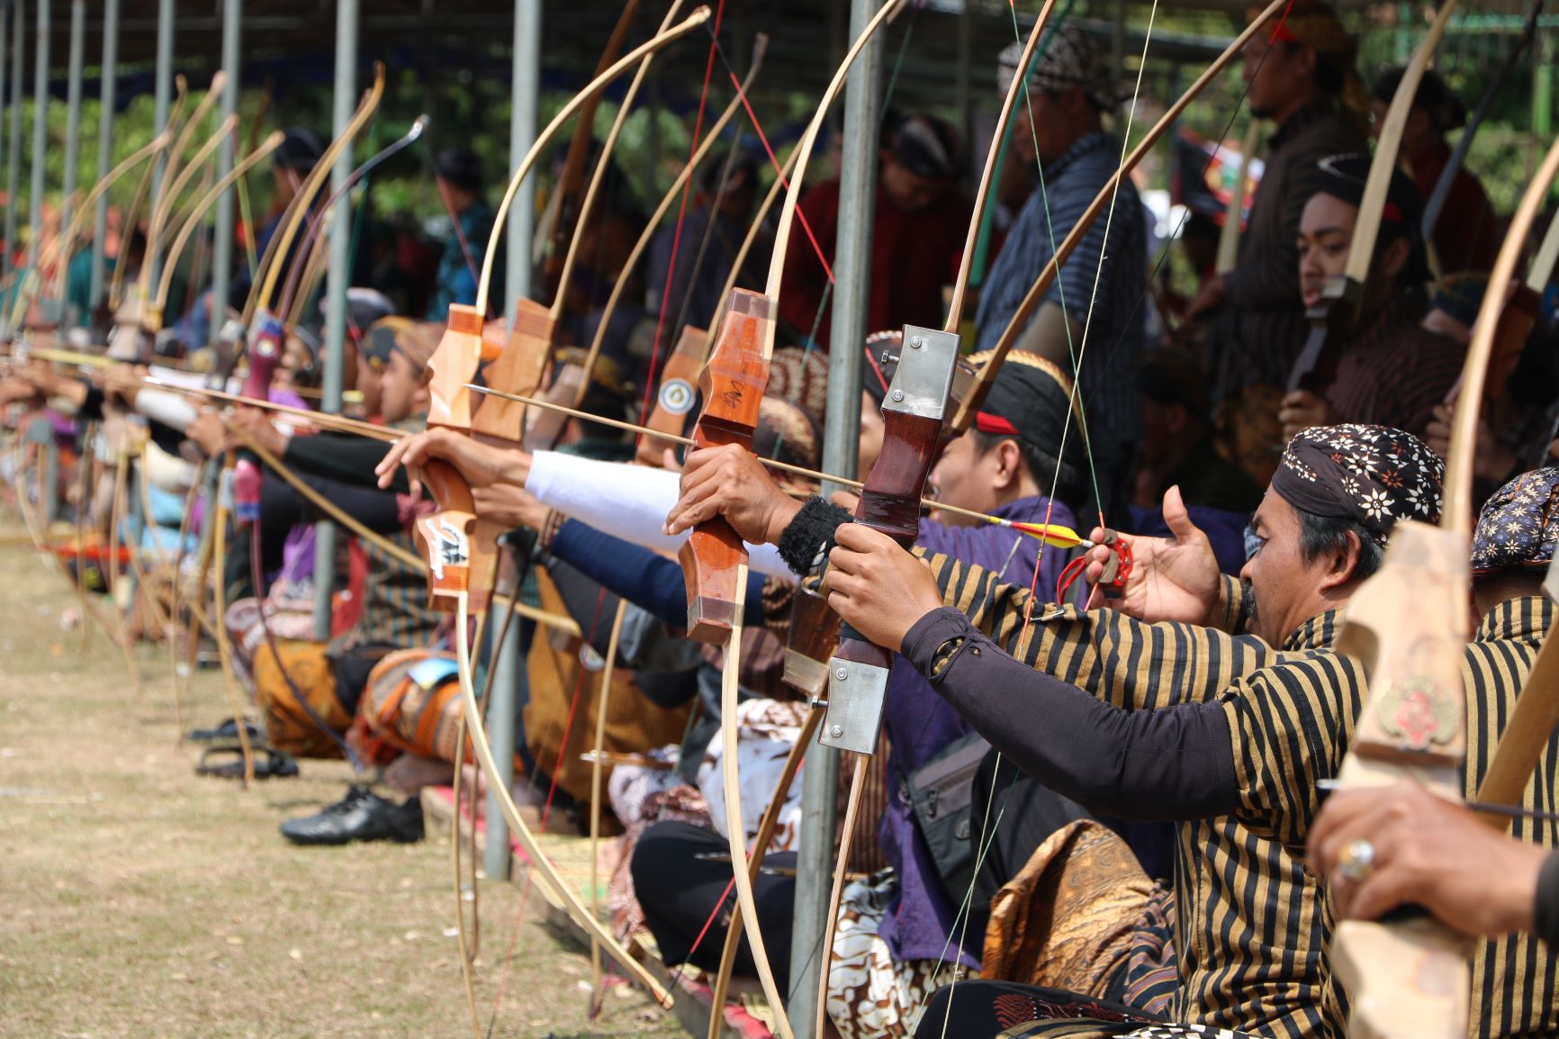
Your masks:
M 1349 602 L 1336 643 L 1369 676 L 1341 786 L 1412 777 L 1461 800 L 1467 585 L 1465 537 L 1412 521 L 1392 529 L 1386 562 Z M 1469 952 L 1467 939 L 1416 910 L 1339 924 L 1333 964 L 1352 1006 L 1349 1036 L 1465 1036 Z

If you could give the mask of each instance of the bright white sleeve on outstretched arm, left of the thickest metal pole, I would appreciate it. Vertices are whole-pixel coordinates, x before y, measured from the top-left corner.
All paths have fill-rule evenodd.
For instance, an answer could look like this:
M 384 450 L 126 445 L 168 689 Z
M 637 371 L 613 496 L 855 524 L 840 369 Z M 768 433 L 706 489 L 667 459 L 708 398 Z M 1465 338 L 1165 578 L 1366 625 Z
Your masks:
M 677 473 L 625 462 L 596 462 L 558 451 L 530 456 L 525 490 L 541 504 L 602 534 L 658 552 L 675 552 L 688 534 L 666 537 L 666 513 L 681 496 Z M 764 577 L 795 580 L 772 544 L 748 544 L 747 568 Z

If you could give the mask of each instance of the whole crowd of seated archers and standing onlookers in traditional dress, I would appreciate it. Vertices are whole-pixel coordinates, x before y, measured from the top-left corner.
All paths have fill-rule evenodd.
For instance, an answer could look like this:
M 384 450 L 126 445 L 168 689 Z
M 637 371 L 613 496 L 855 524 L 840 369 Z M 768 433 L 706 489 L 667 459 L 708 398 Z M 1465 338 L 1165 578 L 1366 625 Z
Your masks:
M 1006 90 L 1016 58 L 998 64 Z M 820 691 L 798 682 L 797 655 L 815 635 L 822 591 L 847 624 L 895 651 L 851 880 L 825 953 L 825 1000 L 843 1039 L 1132 1034 L 1168 1022 L 1339 1036 L 1350 997 L 1328 952 L 1336 925 L 1402 905 L 1476 939 L 1475 1034 L 1554 1031 L 1559 973 L 1539 942 L 1559 941 L 1553 816 L 1517 817 L 1501 835 L 1414 785 L 1322 803 L 1367 691 L 1359 661 L 1336 647 L 1344 610 L 1381 569 L 1400 521 L 1439 520 L 1467 343 L 1484 296 L 1506 292 L 1489 281 L 1504 222 L 1461 168 L 1425 234 L 1447 134 L 1465 122 L 1462 101 L 1430 72 L 1369 275 L 1349 300 L 1353 320 L 1330 370 L 1306 368 L 1306 314 L 1336 303 L 1364 215 L 1370 129 L 1403 70 L 1366 83 L 1355 37 L 1319 0 L 1296 0 L 1275 33 L 1257 34 L 1243 69 L 1249 111 L 1267 129 L 1264 172 L 1249 214 L 1236 190 L 1227 212 L 1191 214 L 1197 231 L 1166 246 L 1185 250 L 1194 282 L 1174 306 L 1151 292 L 1152 214 L 1130 179 L 1107 218 L 1084 223 L 1121 162 L 1124 70 L 1062 23 L 1027 72 L 1032 122 L 1020 120 L 998 172 L 1007 220 L 963 328 L 970 368 L 1002 367 L 931 473 L 937 507 L 915 549 L 926 565 L 851 523 L 853 496 L 820 498 L 808 477 L 772 474 L 755 456 L 820 468 L 828 357 L 840 349 L 867 362 L 859 471 L 882 456 L 879 410 L 900 329 L 942 326 L 971 220 L 968 144 L 929 112 L 884 117 L 862 343 L 831 340 L 839 178 L 806 187 L 809 231 L 780 257 L 776 349 L 751 452 L 645 451 L 588 418 L 642 423 L 652 402 L 684 417 L 678 426 L 697 417 L 691 393 L 664 392 L 659 374 L 689 329 L 720 320 L 728 282 L 762 289 L 775 240 L 773 214 L 759 215 L 767 156 L 741 145 L 708 159 L 686 218 L 659 228 L 647 228 L 628 176 L 597 145 L 591 167 L 608 170 L 578 214 L 578 267 L 560 289 L 541 387 L 580 412 L 532 409 L 519 443 L 429 426 L 430 362 L 451 304 L 477 301 L 494 231 L 496 176 L 458 150 L 435 162 L 447 239 L 429 245 L 369 220 L 352 259 L 348 410 L 402 434 L 393 446 L 307 413 L 218 412 L 187 392 L 204 382 L 187 367 L 214 367 L 207 343 L 243 309 L 246 264 L 232 271 L 229 300 L 210 298 L 209 271 L 181 287 L 170 307 L 181 317 L 140 356 L 90 374 L 12 363 L 0 401 L 12 426 L 50 418 L 67 462 L 59 493 L 83 513 L 109 515 L 92 512 L 104 491 L 90 474 L 114 482 L 94 454 L 139 459 L 148 513 L 134 549 L 186 563 L 139 582 L 148 602 L 136 608 L 165 615 L 161 632 L 143 627 L 231 643 L 254 708 L 253 721 L 203 733 L 215 741 L 203 768 L 242 775 L 253 741 L 260 774 L 296 774 L 298 758 L 357 769 L 338 803 L 282 824 L 288 841 L 416 841 L 422 789 L 483 782 L 469 764 L 460 771 L 454 640 L 468 633 L 430 607 L 419 563 L 416 520 L 435 505 L 413 477 L 441 460 L 471 485 L 477 518 L 511 530 L 500 583 L 530 608 L 514 621 L 524 657 L 514 799 L 552 827 L 583 827 L 586 718 L 608 711 L 608 746 L 597 750 L 614 757 L 596 808 L 617 835 L 613 927 L 652 936 L 664 963 L 720 967 L 733 902 L 722 774 L 736 768 L 748 839 L 762 807 L 783 803 L 756 880 L 761 919 L 748 927 L 762 930 L 781 991 L 797 983 L 801 783 L 776 785 Z M 323 151 L 309 129 L 287 131 L 257 253 Z M 544 229 L 557 206 L 553 193 Z M 764 223 L 744 253 L 755 217 Z M 1202 229 L 1225 220 L 1243 220 L 1244 232 L 1221 270 Z M 1085 234 L 1057 271 L 1057 245 L 1074 228 Z M 136 271 L 140 229 L 111 225 L 111 271 Z M 538 271 L 546 240 L 538 234 Z M 89 253 L 76 251 L 69 303 L 94 328 L 106 315 L 90 317 Z M 1015 321 L 1048 273 L 1037 306 Z M 608 315 L 619 285 L 622 304 Z M 1481 412 L 1481 515 L 1467 560 L 1478 627 L 1462 655 L 1467 758 L 1456 777 L 1469 799 L 1553 621 L 1540 585 L 1559 543 L 1559 326 L 1547 307 L 1497 370 Z M 310 314 L 290 329 L 270 402 L 307 412 L 316 401 L 323 321 Z M 231 507 L 206 482 L 224 457 L 237 457 L 223 491 Z M 316 498 L 362 527 L 324 568 Z M 201 521 L 189 520 L 190 502 L 204 523 L 231 527 L 224 569 L 207 582 L 214 598 L 195 577 Z M 1108 526 L 1135 563 L 1105 599 L 1094 585 L 1107 583 L 1107 548 L 1057 548 L 957 510 L 1101 544 L 1105 530 L 1088 530 Z M 694 524 L 716 516 L 750 551 L 736 718 L 722 716 L 723 651 L 684 637 L 688 580 L 675 562 Z M 84 571 L 75 577 L 90 583 Z M 321 587 L 327 641 L 315 635 Z M 220 630 L 201 633 L 178 610 L 181 594 L 214 604 Z M 536 619 L 546 616 L 569 622 Z M 479 658 L 500 627 L 485 626 Z M 580 688 L 605 674 L 610 700 L 589 707 L 586 696 L 577 711 Z M 737 761 L 725 760 L 726 725 L 737 727 Z M 1556 789 L 1550 746 L 1523 803 L 1551 807 Z M 480 811 L 479 797 L 468 803 Z M 736 970 L 756 967 L 744 942 Z

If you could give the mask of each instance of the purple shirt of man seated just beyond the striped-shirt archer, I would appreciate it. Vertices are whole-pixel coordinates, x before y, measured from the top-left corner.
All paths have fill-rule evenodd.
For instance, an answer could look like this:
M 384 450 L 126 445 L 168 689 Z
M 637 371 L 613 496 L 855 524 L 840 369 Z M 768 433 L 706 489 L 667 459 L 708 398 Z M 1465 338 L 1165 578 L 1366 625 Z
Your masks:
M 1073 529 L 1077 526 L 1071 509 L 1062 502 L 1052 507 L 1043 496 L 1020 498 L 996 509 L 993 515 L 1027 523 L 1048 520 Z M 921 520 L 915 544 L 926 552 L 940 552 L 982 566 L 999 574 L 1001 580 L 1023 587 L 1034 579 L 1034 562 L 1040 559 L 1038 538 L 998 526 L 951 527 Z M 1054 594 L 1055 579 L 1074 554 L 1076 551 L 1065 552 L 1045 546 L 1037 585 L 1041 599 Z M 1077 582 L 1074 596 L 1082 594 L 1082 583 Z M 893 654 L 893 671 L 887 680 L 887 704 L 884 722 L 889 736 L 889 800 L 887 811 L 878 824 L 878 841 L 882 844 L 884 858 L 898 875 L 898 894 L 889 903 L 878 933 L 896 961 L 943 958 L 951 961 L 962 939 L 967 944 L 957 950 L 959 961 L 979 969 L 984 934 L 974 928 L 959 927 L 959 933 L 953 934 L 953 945 L 948 944 L 957 906 L 948 899 L 937 866 L 931 860 L 931 850 L 915 828 L 914 814 L 901 796 L 904 777 L 973 729 L 898 654 Z

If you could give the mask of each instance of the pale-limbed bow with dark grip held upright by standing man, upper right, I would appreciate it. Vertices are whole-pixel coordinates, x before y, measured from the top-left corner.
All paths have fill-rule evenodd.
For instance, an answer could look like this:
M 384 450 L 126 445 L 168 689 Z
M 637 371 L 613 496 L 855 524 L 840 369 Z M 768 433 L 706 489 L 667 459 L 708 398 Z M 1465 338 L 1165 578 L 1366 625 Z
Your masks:
M 1430 31 L 1425 33 L 1419 48 L 1412 51 L 1412 61 L 1403 70 L 1397 92 L 1391 98 L 1386 122 L 1381 123 L 1380 139 L 1375 142 L 1375 158 L 1370 161 L 1369 178 L 1364 181 L 1358 218 L 1353 222 L 1347 267 L 1341 278 L 1327 279 L 1320 300 L 1305 312 L 1310 320 L 1310 335 L 1306 335 L 1289 373 L 1289 393 L 1310 390 L 1316 395 L 1325 395 L 1327 387 L 1338 374 L 1338 362 L 1342 360 L 1353 335 L 1353 323 L 1359 317 L 1359 304 L 1364 298 L 1364 284 L 1369 281 L 1370 267 L 1375 262 L 1375 240 L 1380 237 L 1380 225 L 1386 212 L 1386 192 L 1391 189 L 1392 170 L 1397 168 L 1397 153 L 1402 148 L 1402 134 L 1408 128 L 1408 115 L 1412 114 L 1412 98 L 1419 94 L 1419 83 L 1423 81 L 1423 72 L 1430 67 L 1434 47 L 1441 42 L 1456 3 L 1458 0 L 1445 0 L 1441 6 Z

